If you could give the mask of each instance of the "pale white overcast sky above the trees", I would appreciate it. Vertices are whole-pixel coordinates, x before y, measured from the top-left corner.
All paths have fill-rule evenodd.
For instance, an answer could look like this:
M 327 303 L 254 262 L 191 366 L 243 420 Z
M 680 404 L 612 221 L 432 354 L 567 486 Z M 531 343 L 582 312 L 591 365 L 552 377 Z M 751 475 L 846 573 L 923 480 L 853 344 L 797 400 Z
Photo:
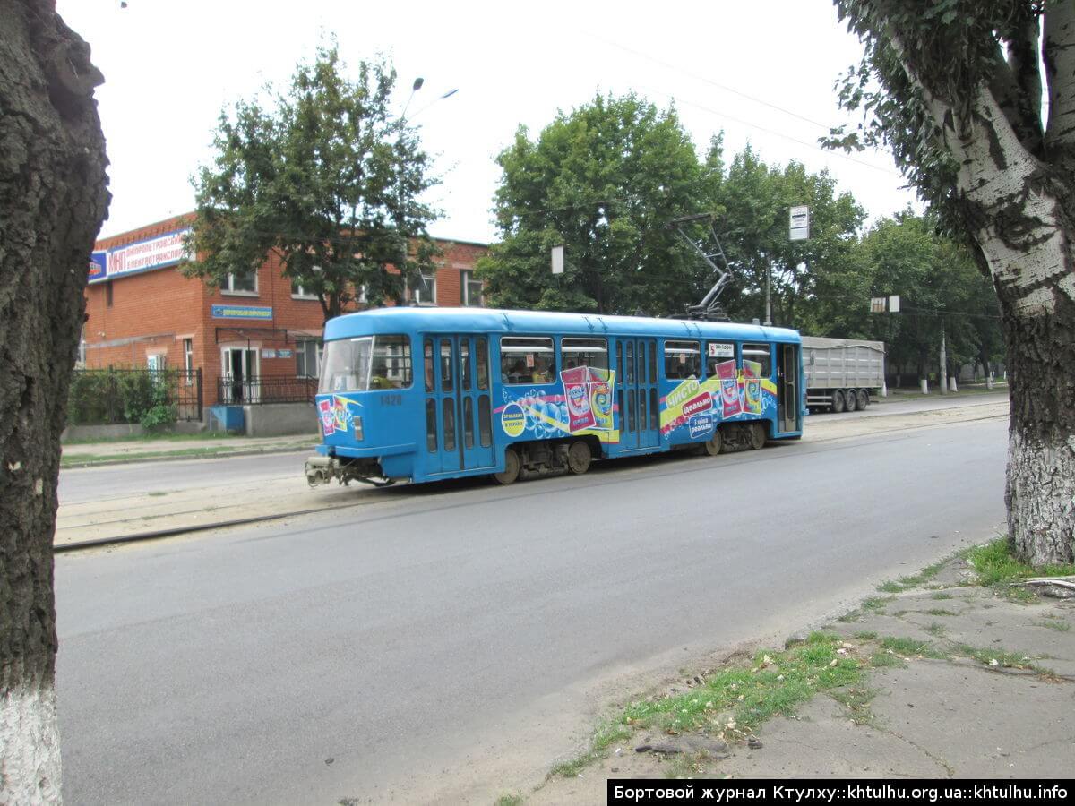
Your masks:
M 388 56 L 402 112 L 420 127 L 443 184 L 431 231 L 494 240 L 496 155 L 522 124 L 536 134 L 596 92 L 673 99 L 700 153 L 725 132 L 769 163 L 828 168 L 871 218 L 914 201 L 891 157 L 822 152 L 845 118 L 833 83 L 860 56 L 828 0 L 705 3 L 353 0 L 58 0 L 104 73 L 97 90 L 108 139 L 112 206 L 102 235 L 194 206 L 189 178 L 211 158 L 223 106 L 267 82 L 283 85 L 333 33 L 352 64 Z M 440 100 L 449 90 L 458 92 Z

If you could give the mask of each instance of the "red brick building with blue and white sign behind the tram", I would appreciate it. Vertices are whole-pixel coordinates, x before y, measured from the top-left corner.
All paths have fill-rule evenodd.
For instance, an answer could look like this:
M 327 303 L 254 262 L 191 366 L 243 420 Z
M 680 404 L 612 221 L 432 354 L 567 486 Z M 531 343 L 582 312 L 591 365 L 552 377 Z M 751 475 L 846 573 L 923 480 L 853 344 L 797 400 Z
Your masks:
M 270 388 L 316 377 L 324 314 L 292 287 L 272 255 L 214 289 L 176 268 L 190 214 L 98 241 L 86 288 L 80 359 L 88 369 L 131 366 L 202 374 L 202 405 L 259 402 Z M 481 305 L 474 262 L 486 245 L 438 240 L 435 276 L 407 291 L 413 304 Z M 358 303 L 356 308 L 361 308 Z M 252 383 L 253 382 L 253 383 Z

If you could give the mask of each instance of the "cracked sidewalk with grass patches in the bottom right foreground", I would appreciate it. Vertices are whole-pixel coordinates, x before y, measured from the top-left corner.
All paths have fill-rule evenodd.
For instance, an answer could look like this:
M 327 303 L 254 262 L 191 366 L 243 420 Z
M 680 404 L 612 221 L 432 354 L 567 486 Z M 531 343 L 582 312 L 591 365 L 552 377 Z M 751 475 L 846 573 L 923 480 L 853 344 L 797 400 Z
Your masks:
M 610 777 L 1067 777 L 1073 627 L 1075 600 L 985 587 L 956 557 L 632 702 L 515 802 L 604 803 Z

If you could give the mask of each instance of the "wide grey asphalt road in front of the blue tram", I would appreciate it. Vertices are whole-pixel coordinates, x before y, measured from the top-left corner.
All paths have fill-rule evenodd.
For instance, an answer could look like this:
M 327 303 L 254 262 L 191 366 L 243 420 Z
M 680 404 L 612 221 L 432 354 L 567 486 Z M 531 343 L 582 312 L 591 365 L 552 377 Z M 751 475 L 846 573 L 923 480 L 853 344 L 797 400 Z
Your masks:
M 489 759 L 540 767 L 626 670 L 800 628 L 990 536 L 1005 452 L 984 420 L 59 557 L 64 795 L 410 802 Z

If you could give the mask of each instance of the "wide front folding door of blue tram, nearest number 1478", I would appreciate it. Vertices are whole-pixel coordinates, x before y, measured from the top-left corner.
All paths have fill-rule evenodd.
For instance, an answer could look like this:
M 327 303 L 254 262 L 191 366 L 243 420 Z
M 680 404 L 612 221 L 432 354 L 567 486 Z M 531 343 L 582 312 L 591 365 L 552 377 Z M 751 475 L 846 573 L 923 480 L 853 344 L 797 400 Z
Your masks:
M 489 340 L 428 336 L 422 344 L 430 471 L 493 467 Z

